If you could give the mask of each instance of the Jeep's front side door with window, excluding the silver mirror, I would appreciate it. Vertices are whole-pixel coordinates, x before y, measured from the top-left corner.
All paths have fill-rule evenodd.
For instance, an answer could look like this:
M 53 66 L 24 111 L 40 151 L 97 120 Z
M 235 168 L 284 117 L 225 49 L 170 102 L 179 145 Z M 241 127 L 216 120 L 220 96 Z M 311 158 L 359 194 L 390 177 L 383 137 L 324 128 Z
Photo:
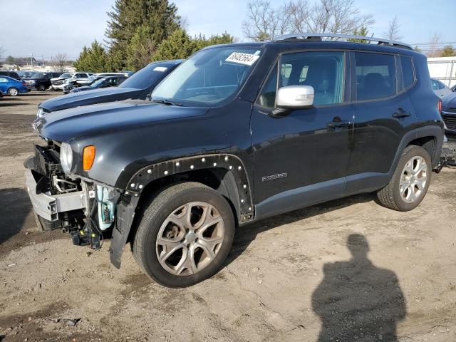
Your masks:
M 258 216 L 343 193 L 353 133 L 346 53 L 286 53 L 264 83 L 252 112 L 254 202 Z M 276 89 L 314 88 L 314 106 L 272 115 Z

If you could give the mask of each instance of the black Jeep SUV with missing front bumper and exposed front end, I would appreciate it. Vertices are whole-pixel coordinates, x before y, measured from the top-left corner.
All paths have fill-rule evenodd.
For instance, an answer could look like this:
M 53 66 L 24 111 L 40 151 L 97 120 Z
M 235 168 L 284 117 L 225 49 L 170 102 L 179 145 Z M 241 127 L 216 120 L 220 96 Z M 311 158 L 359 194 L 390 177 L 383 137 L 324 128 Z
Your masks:
M 444 131 L 425 56 L 322 37 L 204 48 L 151 101 L 38 118 L 25 166 L 39 224 L 94 249 L 112 234 L 116 267 L 130 242 L 145 273 L 182 287 L 249 222 L 362 192 L 417 207 Z

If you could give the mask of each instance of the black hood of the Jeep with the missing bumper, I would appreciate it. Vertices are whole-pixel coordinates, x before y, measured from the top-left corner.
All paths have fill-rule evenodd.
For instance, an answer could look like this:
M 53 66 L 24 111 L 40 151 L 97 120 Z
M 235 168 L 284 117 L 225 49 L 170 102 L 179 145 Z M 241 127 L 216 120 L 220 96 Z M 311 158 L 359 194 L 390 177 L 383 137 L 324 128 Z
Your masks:
M 48 140 L 70 142 L 83 135 L 104 134 L 127 126 L 204 115 L 208 109 L 125 100 L 60 110 L 36 119 L 33 128 Z

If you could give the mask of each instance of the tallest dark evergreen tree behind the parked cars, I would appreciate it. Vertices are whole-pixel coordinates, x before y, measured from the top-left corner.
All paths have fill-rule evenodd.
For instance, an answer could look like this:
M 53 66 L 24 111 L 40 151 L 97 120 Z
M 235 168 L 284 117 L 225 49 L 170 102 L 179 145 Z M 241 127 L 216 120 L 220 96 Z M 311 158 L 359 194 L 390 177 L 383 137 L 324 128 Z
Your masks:
M 132 52 L 128 46 L 140 26 L 150 29 L 149 39 L 156 45 L 180 28 L 177 7 L 168 0 L 115 0 L 113 11 L 109 11 L 108 16 L 110 20 L 105 36 L 110 48 L 111 67 L 117 70 L 125 67 L 128 51 Z M 140 31 L 138 34 L 143 38 L 144 28 Z M 138 37 L 135 39 L 138 40 Z M 130 61 L 133 60 L 135 57 L 130 56 Z

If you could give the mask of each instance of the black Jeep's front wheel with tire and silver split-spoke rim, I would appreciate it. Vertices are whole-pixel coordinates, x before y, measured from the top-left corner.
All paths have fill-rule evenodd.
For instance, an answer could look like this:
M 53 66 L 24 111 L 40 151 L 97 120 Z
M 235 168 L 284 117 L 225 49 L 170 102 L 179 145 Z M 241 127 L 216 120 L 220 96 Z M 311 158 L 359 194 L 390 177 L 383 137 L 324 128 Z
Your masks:
M 182 224 L 187 222 L 187 212 L 192 213 L 190 229 Z M 211 214 L 204 216 L 204 212 Z M 209 278 L 222 266 L 232 246 L 231 207 L 218 192 L 197 182 L 167 187 L 150 199 L 139 219 L 133 255 L 145 273 L 163 286 L 187 287 Z

